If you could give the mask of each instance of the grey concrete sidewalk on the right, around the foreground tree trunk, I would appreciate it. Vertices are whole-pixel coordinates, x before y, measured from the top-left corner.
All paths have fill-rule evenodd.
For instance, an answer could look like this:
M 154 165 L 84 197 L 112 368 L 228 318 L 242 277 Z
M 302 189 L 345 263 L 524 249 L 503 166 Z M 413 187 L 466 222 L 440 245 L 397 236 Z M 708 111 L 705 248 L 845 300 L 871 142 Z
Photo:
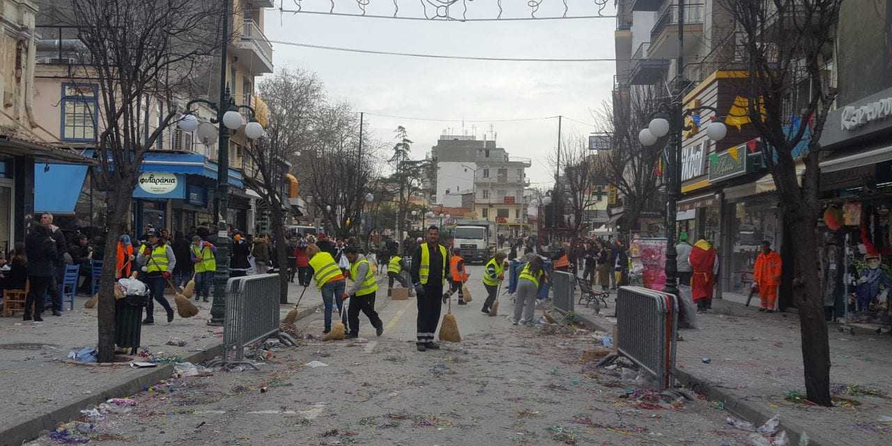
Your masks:
M 601 315 L 584 307 L 576 310 L 612 333 L 615 318 L 609 316 L 615 311 L 615 294 Z M 797 315 L 764 314 L 735 302 L 714 301 L 714 310 L 699 314 L 698 323 L 697 330 L 679 332 L 683 341 L 678 343 L 676 366 L 685 384 L 757 425 L 779 414 L 789 434 L 797 434 L 791 435 L 793 440 L 805 433 L 813 445 L 888 444 L 892 423 L 880 419 L 892 417 L 892 336 L 842 335 L 838 326 L 830 326 L 830 381 L 834 396 L 847 401 L 821 408 L 786 399 L 792 392 L 805 398 Z M 865 395 L 863 390 L 885 397 Z

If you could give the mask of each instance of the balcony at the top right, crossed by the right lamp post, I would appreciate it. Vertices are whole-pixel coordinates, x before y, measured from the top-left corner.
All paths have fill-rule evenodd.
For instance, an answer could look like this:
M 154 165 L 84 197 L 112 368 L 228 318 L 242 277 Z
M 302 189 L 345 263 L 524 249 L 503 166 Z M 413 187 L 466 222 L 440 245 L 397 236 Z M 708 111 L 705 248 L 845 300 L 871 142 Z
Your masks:
M 678 4 L 670 4 L 660 12 L 657 23 L 650 29 L 651 57 L 675 57 L 678 55 Z M 684 34 L 690 38 L 685 45 L 685 55 L 698 53 L 697 35 L 703 33 L 703 4 L 684 5 Z

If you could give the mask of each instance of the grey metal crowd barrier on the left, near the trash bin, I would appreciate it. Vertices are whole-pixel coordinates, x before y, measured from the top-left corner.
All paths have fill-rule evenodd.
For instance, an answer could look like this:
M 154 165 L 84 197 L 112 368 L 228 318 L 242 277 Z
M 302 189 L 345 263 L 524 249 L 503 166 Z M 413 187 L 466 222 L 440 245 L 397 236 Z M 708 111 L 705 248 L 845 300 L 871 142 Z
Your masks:
M 210 366 L 244 364 L 258 370 L 252 361 L 244 359 L 244 348 L 270 337 L 297 345 L 290 335 L 279 332 L 279 275 L 230 278 L 223 323 L 223 359 L 212 361 Z M 230 359 L 230 355 L 234 358 Z

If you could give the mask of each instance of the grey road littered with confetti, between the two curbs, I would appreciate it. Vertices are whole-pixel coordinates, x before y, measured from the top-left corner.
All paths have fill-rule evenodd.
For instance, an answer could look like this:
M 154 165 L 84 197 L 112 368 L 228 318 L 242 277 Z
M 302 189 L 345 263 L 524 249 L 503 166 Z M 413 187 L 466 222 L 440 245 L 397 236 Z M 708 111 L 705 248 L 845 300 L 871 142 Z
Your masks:
M 95 440 L 115 444 L 539 445 L 748 444 L 710 401 L 660 401 L 636 391 L 620 370 L 580 364 L 599 346 L 590 332 L 512 326 L 475 301 L 452 310 L 462 343 L 415 349 L 416 301 L 378 308 L 376 337 L 360 317 L 357 341 L 304 340 L 274 351 L 260 371 L 172 378 L 133 395 L 136 407 L 97 423 Z M 503 313 L 511 308 L 502 298 Z M 537 315 L 541 311 L 537 311 Z M 321 335 L 322 315 L 299 324 Z M 278 350 L 278 349 L 273 349 Z M 311 368 L 310 361 L 324 367 Z M 633 379 L 634 373 L 626 378 Z M 169 384 L 169 385 L 167 385 Z M 169 392 L 168 392 L 169 391 Z M 33 444 L 51 444 L 41 437 Z

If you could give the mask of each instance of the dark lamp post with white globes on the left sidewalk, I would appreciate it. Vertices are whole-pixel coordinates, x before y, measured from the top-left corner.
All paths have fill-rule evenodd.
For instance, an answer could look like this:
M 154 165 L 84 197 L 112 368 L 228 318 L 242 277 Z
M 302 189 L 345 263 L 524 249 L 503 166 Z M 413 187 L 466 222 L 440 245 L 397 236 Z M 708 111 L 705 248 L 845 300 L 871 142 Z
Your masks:
M 199 120 L 192 111 L 195 103 L 204 103 L 217 112 L 216 120 L 211 120 L 219 126 L 217 145 L 217 194 L 214 196 L 214 215 L 218 218 L 217 237 L 213 240 L 217 246 L 217 270 L 214 274 L 214 300 L 211 304 L 211 320 L 208 325 L 221 326 L 226 318 L 226 284 L 229 280 L 229 235 L 227 231 L 226 213 L 229 202 L 229 132 L 237 130 L 244 124 L 239 109 L 246 109 L 251 113 L 251 120 L 244 127 L 244 135 L 249 139 L 257 139 L 263 136 L 264 130 L 254 119 L 254 109 L 248 105 L 235 105 L 232 96 L 229 95 L 227 86 L 227 49 L 229 45 L 229 12 L 230 2 L 223 0 L 223 24 L 224 30 L 220 34 L 220 83 L 219 101 L 212 103 L 203 99 L 196 99 L 186 104 L 186 112 L 179 120 L 179 128 L 192 132 L 198 130 L 202 141 L 213 144 L 212 127 L 199 127 Z M 204 133 L 202 135 L 202 133 Z

